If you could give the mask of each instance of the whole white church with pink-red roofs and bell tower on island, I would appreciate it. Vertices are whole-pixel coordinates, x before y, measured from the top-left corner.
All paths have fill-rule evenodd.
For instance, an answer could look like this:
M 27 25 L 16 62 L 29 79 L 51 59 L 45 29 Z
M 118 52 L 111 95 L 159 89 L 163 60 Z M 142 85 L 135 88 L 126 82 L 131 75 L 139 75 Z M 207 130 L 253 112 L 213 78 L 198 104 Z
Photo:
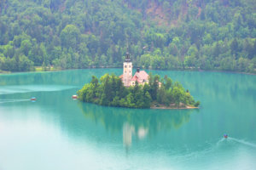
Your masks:
M 139 68 L 137 68 L 136 73 L 132 77 L 132 62 L 130 59 L 130 54 L 126 52 L 125 62 L 123 65 L 123 74 L 119 76 L 119 78 L 121 78 L 125 87 L 130 87 L 134 86 L 136 82 L 141 85 L 148 83 L 149 77 L 146 71 L 140 71 Z

